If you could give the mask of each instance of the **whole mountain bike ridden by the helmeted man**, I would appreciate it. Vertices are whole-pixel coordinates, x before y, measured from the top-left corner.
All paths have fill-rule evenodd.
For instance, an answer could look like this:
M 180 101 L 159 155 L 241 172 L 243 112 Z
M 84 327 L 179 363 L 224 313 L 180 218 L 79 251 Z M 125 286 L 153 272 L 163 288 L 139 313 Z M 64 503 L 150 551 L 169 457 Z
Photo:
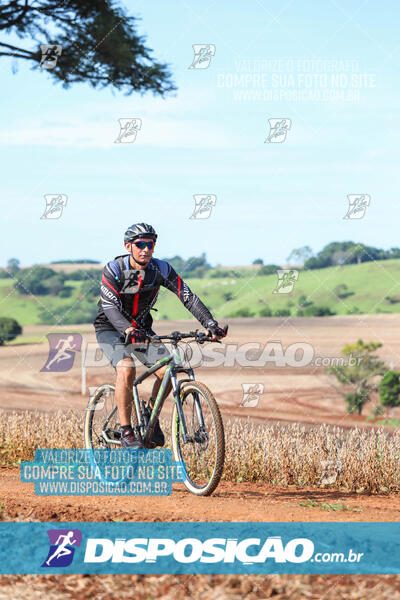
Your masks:
M 228 326 L 225 326 L 226 334 Z M 198 496 L 209 496 L 216 489 L 222 475 L 225 460 L 224 426 L 218 404 L 204 383 L 195 381 L 193 369 L 184 367 L 178 351 L 178 343 L 190 339 L 199 344 L 211 340 L 203 332 L 149 336 L 150 343 L 168 340 L 171 353 L 157 361 L 133 382 L 132 427 L 145 448 L 153 448 L 151 436 L 156 419 L 164 406 L 164 391 L 172 383 L 174 408 L 171 420 L 172 450 L 174 459 L 183 463 L 186 488 Z M 133 355 L 132 355 L 133 356 Z M 140 399 L 138 386 L 158 369 L 167 365 L 157 397 L 151 408 Z M 178 379 L 179 374 L 187 377 Z M 107 449 L 121 446 L 121 430 L 115 401 L 115 386 L 105 383 L 90 398 L 84 424 L 85 446 L 88 449 Z

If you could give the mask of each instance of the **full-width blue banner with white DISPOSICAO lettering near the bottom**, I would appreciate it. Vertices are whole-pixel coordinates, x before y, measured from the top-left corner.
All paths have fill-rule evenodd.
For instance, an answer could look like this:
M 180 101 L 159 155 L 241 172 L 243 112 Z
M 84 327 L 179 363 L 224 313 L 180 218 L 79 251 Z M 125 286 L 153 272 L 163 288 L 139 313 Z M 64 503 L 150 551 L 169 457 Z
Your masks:
M 0 523 L 0 573 L 400 573 L 400 523 Z

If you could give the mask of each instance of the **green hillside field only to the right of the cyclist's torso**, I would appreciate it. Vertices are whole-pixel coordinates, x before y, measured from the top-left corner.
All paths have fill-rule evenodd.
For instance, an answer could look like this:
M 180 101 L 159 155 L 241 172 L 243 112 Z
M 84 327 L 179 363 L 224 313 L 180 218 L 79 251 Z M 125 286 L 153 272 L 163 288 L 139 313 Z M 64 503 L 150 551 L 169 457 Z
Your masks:
M 240 309 L 249 309 L 259 316 L 266 305 L 272 311 L 289 309 L 295 315 L 300 296 L 314 305 L 323 305 L 338 315 L 352 314 L 354 308 L 363 314 L 400 312 L 400 260 L 362 263 L 342 267 L 328 267 L 311 271 L 300 271 L 290 294 L 274 294 L 276 275 L 257 276 L 254 272 L 241 271 L 240 278 L 187 279 L 189 287 L 218 318 L 233 316 Z M 345 284 L 354 294 L 338 299 L 334 288 Z M 227 301 L 226 293 L 232 294 Z M 385 300 L 398 295 L 399 302 L 391 304 Z M 396 298 L 395 298 L 396 299 Z M 160 290 L 158 317 L 184 319 L 187 311 L 168 290 Z M 156 313 L 157 314 L 157 313 Z

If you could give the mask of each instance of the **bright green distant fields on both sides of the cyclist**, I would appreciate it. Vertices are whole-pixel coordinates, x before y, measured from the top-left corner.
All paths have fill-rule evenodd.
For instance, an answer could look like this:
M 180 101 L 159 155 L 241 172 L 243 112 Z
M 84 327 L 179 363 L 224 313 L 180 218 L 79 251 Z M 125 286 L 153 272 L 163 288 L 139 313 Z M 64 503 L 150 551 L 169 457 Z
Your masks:
M 240 277 L 212 278 L 207 273 L 203 279 L 185 280 L 219 319 L 240 316 L 236 313 L 242 309 L 249 310 L 250 316 L 260 316 L 265 306 L 273 312 L 288 309 L 296 315 L 300 296 L 338 315 L 400 312 L 400 259 L 300 271 L 289 294 L 273 293 L 277 283 L 275 274 L 258 276 L 256 270 L 244 268 L 236 269 L 236 273 Z M 18 295 L 9 279 L 0 279 L 0 314 L 15 318 L 21 325 L 35 325 L 43 322 L 39 318 L 43 309 L 52 311 L 73 303 L 79 307 L 81 282 L 68 280 L 67 283 L 74 288 L 70 298 L 33 297 Z M 351 295 L 338 299 L 333 290 L 339 284 L 347 285 Z M 164 288 L 160 290 L 156 308 L 154 320 L 191 318 L 177 297 Z

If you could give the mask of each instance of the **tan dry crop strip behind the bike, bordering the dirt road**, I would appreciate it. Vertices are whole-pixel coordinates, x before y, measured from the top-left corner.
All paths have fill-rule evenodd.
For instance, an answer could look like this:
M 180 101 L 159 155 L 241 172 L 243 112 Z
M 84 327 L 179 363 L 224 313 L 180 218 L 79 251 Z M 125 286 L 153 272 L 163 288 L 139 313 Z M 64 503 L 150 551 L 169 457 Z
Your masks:
M 3 411 L 0 465 L 33 460 L 37 448 L 82 448 L 83 418 L 82 411 L 72 410 Z M 161 417 L 161 426 L 170 439 L 169 421 Z M 223 479 L 227 481 L 299 487 L 329 482 L 333 488 L 372 493 L 400 490 L 400 431 L 228 421 L 225 440 Z M 332 462 L 328 474 L 324 461 Z

